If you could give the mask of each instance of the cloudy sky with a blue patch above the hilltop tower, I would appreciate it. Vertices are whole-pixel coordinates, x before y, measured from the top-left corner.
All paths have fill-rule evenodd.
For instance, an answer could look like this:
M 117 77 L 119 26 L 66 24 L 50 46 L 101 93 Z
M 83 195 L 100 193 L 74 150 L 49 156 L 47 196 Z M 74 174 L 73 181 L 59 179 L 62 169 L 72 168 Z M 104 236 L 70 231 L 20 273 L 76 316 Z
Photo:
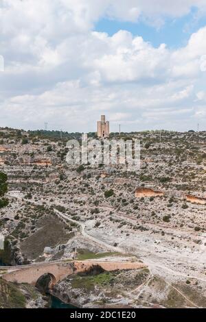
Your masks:
M 205 0 L 0 0 L 0 127 L 206 130 Z

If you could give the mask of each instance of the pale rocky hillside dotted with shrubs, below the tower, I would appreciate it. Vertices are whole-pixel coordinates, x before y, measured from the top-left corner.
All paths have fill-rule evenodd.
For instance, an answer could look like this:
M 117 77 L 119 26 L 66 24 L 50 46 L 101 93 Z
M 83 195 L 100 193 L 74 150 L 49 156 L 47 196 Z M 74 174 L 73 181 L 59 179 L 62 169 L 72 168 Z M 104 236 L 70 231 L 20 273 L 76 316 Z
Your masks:
M 69 166 L 64 141 L 10 129 L 0 134 L 0 171 L 8 174 L 13 196 L 1 210 L 1 232 L 12 245 L 4 254 L 8 261 L 136 256 L 148 264 L 141 284 L 125 290 L 133 271 L 122 272 L 121 281 L 100 273 L 68 277 L 56 293 L 78 298 L 81 306 L 206 306 L 206 132 L 162 132 L 161 140 L 159 132 L 122 134 L 141 140 L 137 173 L 122 166 Z M 137 197 L 137 188 L 146 195 Z M 84 278 L 89 288 L 82 288 Z

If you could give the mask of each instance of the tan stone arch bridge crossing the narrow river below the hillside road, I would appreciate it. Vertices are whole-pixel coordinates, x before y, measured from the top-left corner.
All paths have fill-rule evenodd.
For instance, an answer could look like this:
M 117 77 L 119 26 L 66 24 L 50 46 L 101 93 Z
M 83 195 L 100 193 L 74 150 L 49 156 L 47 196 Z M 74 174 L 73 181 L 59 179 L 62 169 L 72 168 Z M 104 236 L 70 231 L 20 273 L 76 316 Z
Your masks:
M 105 271 L 115 271 L 117 269 L 141 269 L 146 267 L 140 262 L 106 262 L 106 261 L 71 261 L 71 262 L 51 262 L 42 264 L 31 264 L 27 267 L 13 267 L 13 271 L 2 275 L 4 280 L 9 282 L 27 283 L 36 285 L 38 279 L 48 273 L 51 279 L 51 287 L 60 280 L 71 274 L 87 271 L 93 265 L 100 265 Z M 5 269 L 5 267 L 4 267 Z

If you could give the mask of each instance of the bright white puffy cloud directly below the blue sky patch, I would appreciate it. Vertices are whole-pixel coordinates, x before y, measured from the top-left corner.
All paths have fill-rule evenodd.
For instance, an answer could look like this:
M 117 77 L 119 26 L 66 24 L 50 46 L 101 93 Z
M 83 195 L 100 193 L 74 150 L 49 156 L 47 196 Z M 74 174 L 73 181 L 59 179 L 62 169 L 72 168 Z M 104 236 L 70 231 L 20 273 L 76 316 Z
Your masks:
M 139 79 L 159 79 L 167 73 L 168 51 L 164 45 L 155 49 L 141 37 L 133 38 L 120 30 L 106 39 L 106 53 L 91 61 L 106 82 L 133 82 Z M 161 75 L 160 75 L 161 71 Z

